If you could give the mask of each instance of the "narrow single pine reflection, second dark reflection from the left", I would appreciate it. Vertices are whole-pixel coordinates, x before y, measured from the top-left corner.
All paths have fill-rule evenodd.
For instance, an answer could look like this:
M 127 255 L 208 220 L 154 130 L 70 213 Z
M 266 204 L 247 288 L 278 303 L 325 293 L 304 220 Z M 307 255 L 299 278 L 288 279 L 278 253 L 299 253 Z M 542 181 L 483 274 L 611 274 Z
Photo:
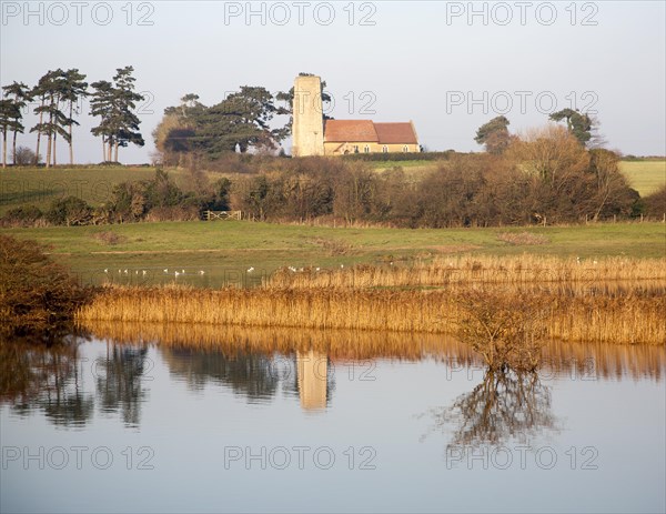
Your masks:
M 145 399 L 141 379 L 147 347 L 112 346 L 94 367 L 97 392 L 103 412 L 122 412 L 127 424 L 138 425 L 141 402 Z

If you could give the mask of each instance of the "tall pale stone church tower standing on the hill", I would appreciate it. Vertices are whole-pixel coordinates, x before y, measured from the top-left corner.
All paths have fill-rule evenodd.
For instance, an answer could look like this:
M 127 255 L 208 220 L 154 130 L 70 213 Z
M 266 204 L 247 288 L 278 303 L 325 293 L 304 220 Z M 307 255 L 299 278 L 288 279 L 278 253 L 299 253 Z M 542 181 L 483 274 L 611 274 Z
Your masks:
M 322 81 L 319 77 L 296 77 L 294 81 L 292 155 L 324 154 Z

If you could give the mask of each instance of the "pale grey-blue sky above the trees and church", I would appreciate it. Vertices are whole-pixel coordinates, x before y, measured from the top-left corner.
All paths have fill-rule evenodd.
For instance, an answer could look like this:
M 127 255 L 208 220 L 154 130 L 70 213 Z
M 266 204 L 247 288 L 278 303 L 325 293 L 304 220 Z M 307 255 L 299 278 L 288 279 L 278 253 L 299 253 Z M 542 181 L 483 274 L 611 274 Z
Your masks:
M 523 133 L 564 108 L 599 122 L 606 147 L 666 154 L 666 2 L 23 2 L 0 1 L 0 82 L 34 85 L 78 68 L 88 82 L 132 65 L 145 163 L 164 108 L 186 93 L 211 105 L 241 85 L 287 90 L 322 77 L 336 119 L 408 121 L 430 151 L 482 151 L 496 115 Z M 32 105 L 34 108 L 34 105 Z M 102 160 L 82 103 L 77 163 Z M 26 123 L 37 118 L 28 112 Z M 281 120 L 275 120 L 281 121 Z M 34 133 L 18 144 L 34 148 Z M 291 142 L 284 143 L 290 151 Z M 59 162 L 68 159 L 64 145 Z

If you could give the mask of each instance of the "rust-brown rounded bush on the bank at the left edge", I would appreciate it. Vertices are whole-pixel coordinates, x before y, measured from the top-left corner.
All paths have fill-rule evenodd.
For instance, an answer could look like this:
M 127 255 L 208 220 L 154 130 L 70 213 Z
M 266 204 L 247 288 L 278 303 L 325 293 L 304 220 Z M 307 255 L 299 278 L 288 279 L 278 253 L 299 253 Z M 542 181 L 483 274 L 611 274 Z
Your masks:
M 36 241 L 0 234 L 0 335 L 52 339 L 72 330 L 87 291 Z

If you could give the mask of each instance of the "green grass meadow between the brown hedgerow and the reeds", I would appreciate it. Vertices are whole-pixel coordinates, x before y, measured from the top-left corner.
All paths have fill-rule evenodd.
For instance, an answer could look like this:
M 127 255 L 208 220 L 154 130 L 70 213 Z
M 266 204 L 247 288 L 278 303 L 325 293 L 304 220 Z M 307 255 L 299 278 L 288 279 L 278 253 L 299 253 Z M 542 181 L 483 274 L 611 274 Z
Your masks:
M 111 280 L 123 284 L 173 281 L 196 286 L 252 284 L 261 282 L 262 275 L 289 265 L 323 269 L 357 263 L 407 265 L 461 253 L 528 253 L 583 260 L 612 255 L 663 258 L 666 253 L 663 223 L 408 230 L 193 221 L 3 229 L 2 232 L 50 244 L 54 258 L 79 273 L 85 283 Z M 103 243 L 95 238 L 101 232 L 117 234 L 120 242 Z M 507 232 L 541 235 L 544 242 L 509 244 L 498 239 Z M 250 268 L 254 270 L 248 273 Z M 169 272 L 164 273 L 164 269 Z M 175 270 L 185 273 L 176 279 L 172 274 Z

